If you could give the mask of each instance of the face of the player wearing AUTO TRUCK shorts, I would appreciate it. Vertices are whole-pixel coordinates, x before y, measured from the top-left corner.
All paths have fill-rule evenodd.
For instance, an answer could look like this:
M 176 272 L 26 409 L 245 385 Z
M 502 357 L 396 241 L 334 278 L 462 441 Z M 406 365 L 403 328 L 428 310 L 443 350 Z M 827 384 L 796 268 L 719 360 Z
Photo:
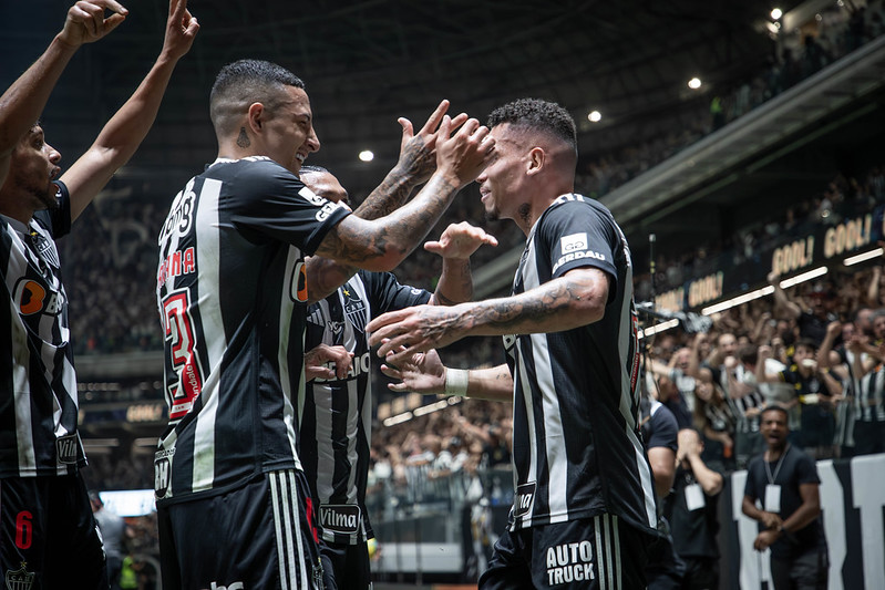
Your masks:
M 492 220 L 515 219 L 519 204 L 525 200 L 521 189 L 528 151 L 523 147 L 521 137 L 510 123 L 495 125 L 488 136 L 495 139 L 495 153 L 492 162 L 476 178 L 485 215 Z

